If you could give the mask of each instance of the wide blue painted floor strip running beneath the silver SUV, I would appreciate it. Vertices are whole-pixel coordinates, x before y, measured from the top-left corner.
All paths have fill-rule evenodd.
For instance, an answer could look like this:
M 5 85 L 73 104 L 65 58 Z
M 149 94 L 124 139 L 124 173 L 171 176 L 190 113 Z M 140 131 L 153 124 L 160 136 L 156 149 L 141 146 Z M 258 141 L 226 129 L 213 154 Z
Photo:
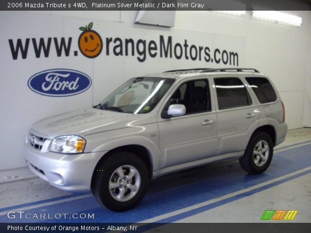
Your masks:
M 304 142 L 305 143 L 305 142 Z M 124 213 L 100 207 L 93 197 L 27 210 L 28 213 L 94 213 L 95 219 L 43 219 L 41 222 L 137 222 L 202 203 L 311 166 L 311 145 L 278 152 L 268 170 L 260 175 L 246 174 L 238 162 L 219 162 L 182 172 L 180 176 L 152 183 L 137 208 Z M 275 184 L 277 185 L 277 184 Z M 259 191 L 258 191 L 259 192 Z M 18 209 L 16 209 L 18 210 Z M 38 222 L 38 219 L 8 219 L 0 222 Z

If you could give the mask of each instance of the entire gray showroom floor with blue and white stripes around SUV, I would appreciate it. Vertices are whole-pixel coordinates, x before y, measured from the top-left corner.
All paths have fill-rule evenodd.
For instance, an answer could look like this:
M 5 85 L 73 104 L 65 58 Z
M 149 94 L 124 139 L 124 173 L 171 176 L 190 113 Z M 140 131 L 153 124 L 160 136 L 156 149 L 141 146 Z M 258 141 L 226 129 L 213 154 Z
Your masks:
M 100 207 L 90 194 L 68 194 L 39 179 L 0 183 L 0 222 L 10 210 L 94 213 L 94 219 L 42 222 L 261 222 L 265 210 L 297 210 L 291 222 L 311 221 L 311 128 L 288 132 L 268 170 L 246 174 L 238 161 L 222 161 L 152 182 L 139 206 L 125 213 Z M 286 220 L 281 220 L 285 222 Z

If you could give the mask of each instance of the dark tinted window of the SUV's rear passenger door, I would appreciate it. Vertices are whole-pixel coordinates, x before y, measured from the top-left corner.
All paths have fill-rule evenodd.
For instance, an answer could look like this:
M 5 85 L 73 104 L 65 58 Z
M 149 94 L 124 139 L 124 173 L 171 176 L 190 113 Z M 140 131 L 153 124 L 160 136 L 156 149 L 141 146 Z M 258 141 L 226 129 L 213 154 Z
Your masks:
M 238 78 L 215 78 L 218 108 L 235 108 L 252 104 L 242 81 Z

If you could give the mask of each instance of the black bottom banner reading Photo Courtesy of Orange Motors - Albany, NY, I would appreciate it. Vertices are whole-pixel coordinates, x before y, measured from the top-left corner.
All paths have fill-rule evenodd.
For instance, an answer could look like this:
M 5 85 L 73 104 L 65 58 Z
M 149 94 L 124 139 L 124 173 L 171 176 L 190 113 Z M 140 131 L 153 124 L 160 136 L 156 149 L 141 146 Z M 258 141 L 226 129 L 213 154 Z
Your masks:
M 311 223 L 0 223 L 1 233 L 309 233 Z

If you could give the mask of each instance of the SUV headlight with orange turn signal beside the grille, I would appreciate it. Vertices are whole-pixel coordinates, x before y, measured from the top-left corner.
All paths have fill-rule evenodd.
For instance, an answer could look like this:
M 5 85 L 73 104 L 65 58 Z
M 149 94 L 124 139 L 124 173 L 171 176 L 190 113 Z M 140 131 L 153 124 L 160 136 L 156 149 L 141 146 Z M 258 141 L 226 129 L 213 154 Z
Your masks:
M 51 143 L 50 151 L 58 153 L 82 153 L 86 140 L 77 135 L 55 137 Z

